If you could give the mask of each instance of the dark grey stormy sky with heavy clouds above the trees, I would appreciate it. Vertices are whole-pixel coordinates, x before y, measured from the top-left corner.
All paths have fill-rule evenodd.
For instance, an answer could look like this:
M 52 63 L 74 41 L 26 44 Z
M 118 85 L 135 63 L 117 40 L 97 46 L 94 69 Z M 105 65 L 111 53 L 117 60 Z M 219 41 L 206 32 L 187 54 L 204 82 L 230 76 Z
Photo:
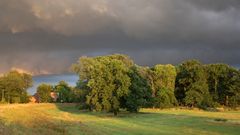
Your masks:
M 0 0 L 0 73 L 66 73 L 114 53 L 240 66 L 240 0 Z

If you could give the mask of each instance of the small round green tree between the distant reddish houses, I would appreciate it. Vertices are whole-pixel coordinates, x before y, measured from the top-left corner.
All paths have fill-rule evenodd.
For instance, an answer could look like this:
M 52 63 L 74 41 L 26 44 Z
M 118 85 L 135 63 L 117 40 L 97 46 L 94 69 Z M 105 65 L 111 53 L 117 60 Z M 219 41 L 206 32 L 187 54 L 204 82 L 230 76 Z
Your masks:
M 49 103 L 52 101 L 51 92 L 53 91 L 53 87 L 48 84 L 40 84 L 37 87 L 37 95 L 39 97 L 40 103 Z

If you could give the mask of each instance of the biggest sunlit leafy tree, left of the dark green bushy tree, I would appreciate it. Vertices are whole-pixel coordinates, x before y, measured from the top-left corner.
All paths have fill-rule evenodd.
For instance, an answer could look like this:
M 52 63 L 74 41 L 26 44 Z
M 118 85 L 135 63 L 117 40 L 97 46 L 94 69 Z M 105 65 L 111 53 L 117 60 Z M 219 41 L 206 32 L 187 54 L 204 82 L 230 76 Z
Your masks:
M 121 58 L 121 59 L 119 59 Z M 96 111 L 112 111 L 117 115 L 120 99 L 128 95 L 130 78 L 128 58 L 121 55 L 100 56 L 94 58 L 81 57 L 75 64 L 74 71 L 86 81 L 90 89 L 86 103 Z

